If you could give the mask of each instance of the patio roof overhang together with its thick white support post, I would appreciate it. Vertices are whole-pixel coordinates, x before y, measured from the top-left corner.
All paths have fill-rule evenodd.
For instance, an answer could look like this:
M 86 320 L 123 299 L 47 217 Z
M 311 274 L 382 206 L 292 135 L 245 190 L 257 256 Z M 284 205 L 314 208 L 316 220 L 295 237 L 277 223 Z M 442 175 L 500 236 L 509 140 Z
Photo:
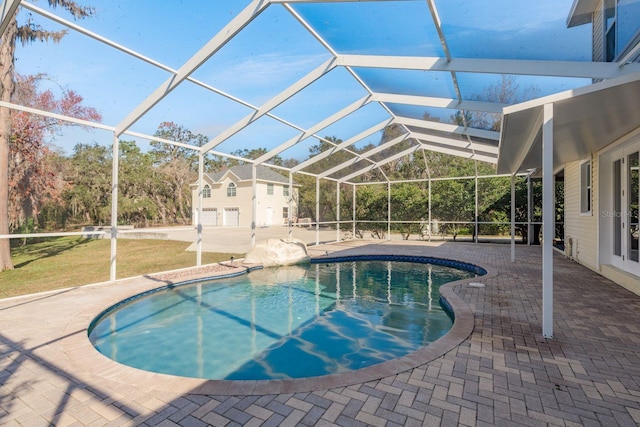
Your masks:
M 542 168 L 545 337 L 553 336 L 554 174 L 565 163 L 590 156 L 636 131 L 640 127 L 639 93 L 640 73 L 636 73 L 504 109 L 498 172 Z M 611 122 L 618 123 L 614 130 Z

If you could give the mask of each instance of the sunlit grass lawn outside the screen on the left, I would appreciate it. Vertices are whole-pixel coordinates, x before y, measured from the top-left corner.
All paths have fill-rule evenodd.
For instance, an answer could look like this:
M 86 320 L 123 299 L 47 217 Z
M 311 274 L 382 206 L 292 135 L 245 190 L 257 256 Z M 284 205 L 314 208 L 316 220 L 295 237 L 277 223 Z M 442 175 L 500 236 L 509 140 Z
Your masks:
M 118 278 L 192 267 L 196 253 L 186 242 L 118 240 Z M 11 248 L 14 270 L 0 272 L 0 298 L 109 280 L 109 240 L 60 237 Z M 239 254 L 202 253 L 202 263 Z

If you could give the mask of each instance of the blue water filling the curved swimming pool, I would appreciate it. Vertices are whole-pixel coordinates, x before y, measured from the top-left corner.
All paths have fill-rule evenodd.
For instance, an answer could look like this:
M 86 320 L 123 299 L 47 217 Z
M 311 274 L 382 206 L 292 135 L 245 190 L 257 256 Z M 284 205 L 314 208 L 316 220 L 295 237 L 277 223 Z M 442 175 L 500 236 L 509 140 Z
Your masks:
M 447 333 L 439 286 L 476 272 L 399 261 L 317 263 L 167 287 L 91 325 L 107 357 L 209 379 L 339 373 L 406 355 Z

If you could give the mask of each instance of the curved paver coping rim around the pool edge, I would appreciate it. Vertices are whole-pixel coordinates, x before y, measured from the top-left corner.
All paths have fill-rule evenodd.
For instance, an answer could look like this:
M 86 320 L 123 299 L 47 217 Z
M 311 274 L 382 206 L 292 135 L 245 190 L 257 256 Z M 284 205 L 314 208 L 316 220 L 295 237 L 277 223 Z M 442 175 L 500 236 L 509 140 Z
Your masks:
M 378 254 L 371 255 L 379 256 Z M 338 256 L 332 256 L 331 258 L 337 257 Z M 325 257 L 318 256 L 313 258 L 322 260 Z M 183 283 L 188 281 L 188 278 L 172 282 L 171 280 L 160 280 L 153 276 L 144 276 L 119 281 L 116 284 L 109 284 L 110 287 L 119 286 L 120 289 L 111 295 L 110 298 L 102 299 L 99 302 L 84 307 L 78 315 L 70 320 L 65 327 L 64 336 L 66 336 L 67 339 L 62 343 L 62 350 L 71 363 L 75 364 L 86 374 L 96 377 L 98 381 L 115 382 L 118 384 L 136 384 L 137 387 L 149 391 L 158 390 L 172 393 L 209 395 L 267 395 L 308 392 L 365 383 L 424 365 L 454 349 L 471 335 L 474 329 L 473 311 L 462 298 L 455 293 L 455 288 L 497 275 L 497 272 L 485 266 L 474 265 L 484 269 L 486 274 L 479 277 L 449 282 L 440 287 L 441 297 L 451 307 L 454 313 L 453 326 L 445 335 L 408 355 L 355 371 L 286 380 L 199 379 L 154 373 L 123 365 L 104 356 L 93 347 L 88 338 L 89 325 L 106 309 L 134 295 Z M 239 273 L 243 271 L 246 272 L 250 268 L 251 267 L 235 267 Z M 94 289 L 98 291 L 98 288 Z

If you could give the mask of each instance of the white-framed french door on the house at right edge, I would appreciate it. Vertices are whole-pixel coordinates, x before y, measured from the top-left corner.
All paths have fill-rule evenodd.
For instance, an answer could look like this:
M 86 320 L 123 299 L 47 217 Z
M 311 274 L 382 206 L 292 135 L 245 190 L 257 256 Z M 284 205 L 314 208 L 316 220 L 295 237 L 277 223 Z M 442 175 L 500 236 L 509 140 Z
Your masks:
M 613 263 L 640 275 L 640 150 L 637 145 L 613 159 Z

